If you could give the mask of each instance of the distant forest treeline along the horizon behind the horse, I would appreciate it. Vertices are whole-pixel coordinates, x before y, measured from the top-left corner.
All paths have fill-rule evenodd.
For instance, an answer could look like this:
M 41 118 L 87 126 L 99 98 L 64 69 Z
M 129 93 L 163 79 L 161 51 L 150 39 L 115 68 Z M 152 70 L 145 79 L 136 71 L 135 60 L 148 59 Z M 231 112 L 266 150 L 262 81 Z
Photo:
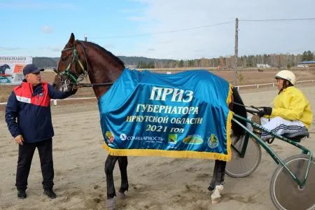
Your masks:
M 200 58 L 200 59 L 153 59 L 148 57 L 118 56 L 126 66 L 139 69 L 160 69 L 178 67 L 219 67 L 220 69 L 231 69 L 235 64 L 235 56 Z M 290 68 L 297 66 L 302 61 L 314 60 L 314 52 L 304 51 L 302 54 L 264 54 L 264 55 L 242 55 L 237 59 L 239 67 L 256 67 L 257 64 L 268 64 L 276 68 Z M 59 57 L 33 57 L 33 63 L 42 68 L 56 68 Z

